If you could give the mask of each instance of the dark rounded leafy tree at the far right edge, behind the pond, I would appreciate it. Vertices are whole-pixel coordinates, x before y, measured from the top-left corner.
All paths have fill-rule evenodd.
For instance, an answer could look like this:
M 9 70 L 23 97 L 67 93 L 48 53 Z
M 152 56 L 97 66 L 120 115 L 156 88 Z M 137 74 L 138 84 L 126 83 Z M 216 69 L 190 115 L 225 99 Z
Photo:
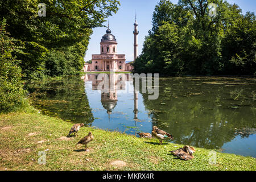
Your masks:
M 226 29 L 222 55 L 226 72 L 232 75 L 255 75 L 256 73 L 256 21 L 254 13 L 233 19 Z

